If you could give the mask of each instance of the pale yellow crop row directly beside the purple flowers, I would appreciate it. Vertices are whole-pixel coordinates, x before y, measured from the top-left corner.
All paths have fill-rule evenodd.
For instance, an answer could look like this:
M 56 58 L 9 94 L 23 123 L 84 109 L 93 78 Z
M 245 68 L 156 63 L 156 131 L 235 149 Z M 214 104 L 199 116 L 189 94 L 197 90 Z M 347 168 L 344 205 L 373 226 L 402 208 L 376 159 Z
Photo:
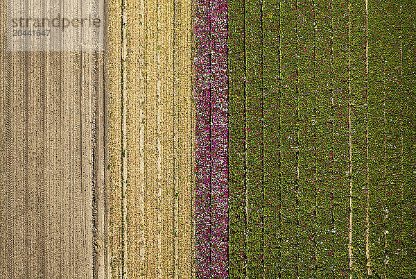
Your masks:
M 191 1 L 175 0 L 175 189 L 177 244 L 175 278 L 192 278 Z

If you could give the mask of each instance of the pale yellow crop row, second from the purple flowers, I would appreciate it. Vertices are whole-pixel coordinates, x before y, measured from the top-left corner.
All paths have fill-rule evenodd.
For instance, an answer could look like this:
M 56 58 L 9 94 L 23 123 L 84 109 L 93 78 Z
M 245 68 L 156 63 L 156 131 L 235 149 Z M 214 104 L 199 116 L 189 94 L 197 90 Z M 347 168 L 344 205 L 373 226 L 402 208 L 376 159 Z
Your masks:
M 158 0 L 157 10 L 157 133 L 158 133 L 158 230 L 157 278 L 173 278 L 175 273 L 173 163 L 173 0 Z

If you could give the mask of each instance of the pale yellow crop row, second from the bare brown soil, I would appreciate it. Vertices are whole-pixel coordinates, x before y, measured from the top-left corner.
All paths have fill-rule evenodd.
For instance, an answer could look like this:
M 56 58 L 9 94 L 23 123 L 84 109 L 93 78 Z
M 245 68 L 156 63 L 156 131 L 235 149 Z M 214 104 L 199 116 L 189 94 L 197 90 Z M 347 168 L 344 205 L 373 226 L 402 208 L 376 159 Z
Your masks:
M 145 96 L 146 96 L 146 25 L 144 1 L 125 3 L 125 117 L 126 117 L 126 230 L 127 251 L 125 252 L 126 276 L 137 278 L 144 274 L 145 249 Z

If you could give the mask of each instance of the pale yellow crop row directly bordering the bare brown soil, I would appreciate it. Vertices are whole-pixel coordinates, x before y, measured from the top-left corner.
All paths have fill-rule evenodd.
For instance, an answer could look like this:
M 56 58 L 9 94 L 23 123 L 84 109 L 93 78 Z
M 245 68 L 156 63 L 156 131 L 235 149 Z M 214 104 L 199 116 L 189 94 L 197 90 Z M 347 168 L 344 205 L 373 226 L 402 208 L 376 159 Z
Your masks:
M 105 198 L 106 277 L 122 278 L 122 193 L 121 193 L 121 5 L 106 1 L 107 37 L 105 51 Z

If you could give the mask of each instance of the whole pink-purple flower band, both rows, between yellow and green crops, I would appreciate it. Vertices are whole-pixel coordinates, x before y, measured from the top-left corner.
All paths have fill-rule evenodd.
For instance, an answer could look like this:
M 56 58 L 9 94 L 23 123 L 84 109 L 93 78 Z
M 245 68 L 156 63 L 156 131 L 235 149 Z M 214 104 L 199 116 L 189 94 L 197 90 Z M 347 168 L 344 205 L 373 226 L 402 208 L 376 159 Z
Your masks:
M 227 3 L 195 10 L 196 277 L 227 278 Z

